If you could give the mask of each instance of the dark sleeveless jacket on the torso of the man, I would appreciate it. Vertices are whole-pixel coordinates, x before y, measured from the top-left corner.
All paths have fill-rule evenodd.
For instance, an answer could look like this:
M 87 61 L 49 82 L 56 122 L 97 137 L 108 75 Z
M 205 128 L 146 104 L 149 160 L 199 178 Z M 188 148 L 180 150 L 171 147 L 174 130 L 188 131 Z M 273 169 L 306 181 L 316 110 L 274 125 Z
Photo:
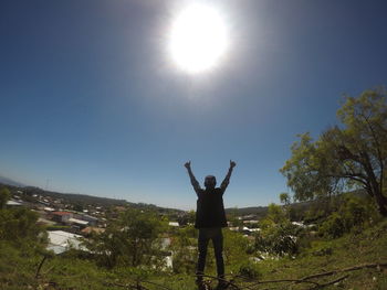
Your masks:
M 213 190 L 200 189 L 197 191 L 196 228 L 227 227 L 223 205 L 224 190 L 217 187 Z

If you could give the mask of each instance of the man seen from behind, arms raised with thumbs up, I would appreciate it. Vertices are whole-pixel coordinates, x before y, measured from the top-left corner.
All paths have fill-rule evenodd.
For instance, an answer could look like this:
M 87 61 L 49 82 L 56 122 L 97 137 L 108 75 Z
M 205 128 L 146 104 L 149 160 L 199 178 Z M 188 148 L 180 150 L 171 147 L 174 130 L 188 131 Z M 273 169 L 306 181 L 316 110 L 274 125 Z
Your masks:
M 230 160 L 229 171 L 221 183 L 220 187 L 216 187 L 217 180 L 213 175 L 208 175 L 205 179 L 205 190 L 199 185 L 192 170 L 191 162 L 186 162 L 185 167 L 188 170 L 189 178 L 196 194 L 198 195 L 195 227 L 199 229 L 198 238 L 198 265 L 197 265 L 197 284 L 200 290 L 206 289 L 203 284 L 203 273 L 207 256 L 207 246 L 212 239 L 215 257 L 217 260 L 218 287 L 217 289 L 226 289 L 224 280 L 224 264 L 223 264 L 223 235 L 222 227 L 227 226 L 223 193 L 229 185 L 232 169 L 236 162 Z

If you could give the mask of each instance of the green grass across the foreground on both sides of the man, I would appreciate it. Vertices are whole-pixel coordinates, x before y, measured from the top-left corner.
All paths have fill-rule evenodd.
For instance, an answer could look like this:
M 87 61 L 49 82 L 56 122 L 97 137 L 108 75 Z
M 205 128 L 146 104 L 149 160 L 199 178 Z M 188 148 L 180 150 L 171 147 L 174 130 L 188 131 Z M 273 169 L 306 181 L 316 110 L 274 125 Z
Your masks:
M 136 278 L 147 281 L 146 289 L 163 289 L 153 283 L 172 290 L 196 289 L 194 277 L 170 272 L 139 271 L 133 268 L 106 270 L 92 260 L 80 259 L 72 255 L 48 259 L 35 279 L 35 271 L 42 257 L 28 247 L 15 248 L 0 241 L 0 284 L 3 290 L 19 289 L 125 289 L 124 284 L 134 283 Z M 295 259 L 283 258 L 258 264 L 260 281 L 280 279 L 300 279 L 318 272 L 343 269 L 362 264 L 387 262 L 387 221 L 374 228 L 351 233 L 334 240 L 316 240 L 312 247 Z M 238 269 L 238 265 L 227 270 Z M 387 289 L 386 269 L 362 269 L 347 272 L 348 277 L 335 286 L 324 289 L 376 290 Z M 326 282 L 343 276 L 337 273 L 318 279 Z M 317 280 L 316 280 L 317 281 Z M 245 287 L 242 280 L 238 284 Z M 250 283 L 251 284 L 251 283 Z M 311 289 L 308 283 L 265 283 L 255 289 Z M 127 289 L 127 288 L 126 288 Z

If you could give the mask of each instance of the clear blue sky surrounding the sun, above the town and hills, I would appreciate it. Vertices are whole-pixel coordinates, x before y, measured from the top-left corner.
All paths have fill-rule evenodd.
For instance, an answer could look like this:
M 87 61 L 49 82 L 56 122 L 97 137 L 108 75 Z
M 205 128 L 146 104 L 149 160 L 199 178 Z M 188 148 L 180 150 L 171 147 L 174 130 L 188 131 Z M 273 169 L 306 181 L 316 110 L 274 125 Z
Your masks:
M 49 190 L 195 208 L 182 164 L 226 206 L 279 202 L 296 135 L 344 93 L 386 85 L 387 2 L 222 0 L 229 50 L 188 74 L 168 55 L 195 1 L 0 2 L 0 175 Z

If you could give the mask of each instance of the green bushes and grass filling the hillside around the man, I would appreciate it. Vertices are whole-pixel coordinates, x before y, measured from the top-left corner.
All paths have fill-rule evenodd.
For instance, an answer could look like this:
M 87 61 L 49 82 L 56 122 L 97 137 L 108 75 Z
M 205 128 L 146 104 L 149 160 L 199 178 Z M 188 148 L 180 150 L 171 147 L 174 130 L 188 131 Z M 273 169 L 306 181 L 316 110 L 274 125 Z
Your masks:
M 224 229 L 228 279 L 237 287 L 230 289 L 260 289 L 261 284 L 270 289 L 312 289 L 316 284 L 324 289 L 337 284 L 385 289 L 387 221 L 372 198 L 352 193 L 341 196 L 332 208 L 317 224 L 300 227 L 291 223 L 289 207 L 271 204 L 253 239 Z M 155 212 L 129 210 L 111 221 L 105 233 L 88 237 L 85 245 L 91 251 L 70 249 L 53 256 L 44 250 L 42 232 L 31 230 L 35 215 L 23 211 L 24 216 L 17 215 L 20 210 L 4 207 L 0 212 L 27 229 L 11 230 L 12 238 L 2 236 L 0 240 L 2 289 L 196 288 L 197 230 L 192 226 L 168 229 Z M 30 222 L 22 222 L 25 219 Z M 171 237 L 169 248 L 159 243 L 165 235 Z M 164 264 L 169 250 L 174 253 L 172 268 Z M 216 275 L 211 250 L 207 272 Z

